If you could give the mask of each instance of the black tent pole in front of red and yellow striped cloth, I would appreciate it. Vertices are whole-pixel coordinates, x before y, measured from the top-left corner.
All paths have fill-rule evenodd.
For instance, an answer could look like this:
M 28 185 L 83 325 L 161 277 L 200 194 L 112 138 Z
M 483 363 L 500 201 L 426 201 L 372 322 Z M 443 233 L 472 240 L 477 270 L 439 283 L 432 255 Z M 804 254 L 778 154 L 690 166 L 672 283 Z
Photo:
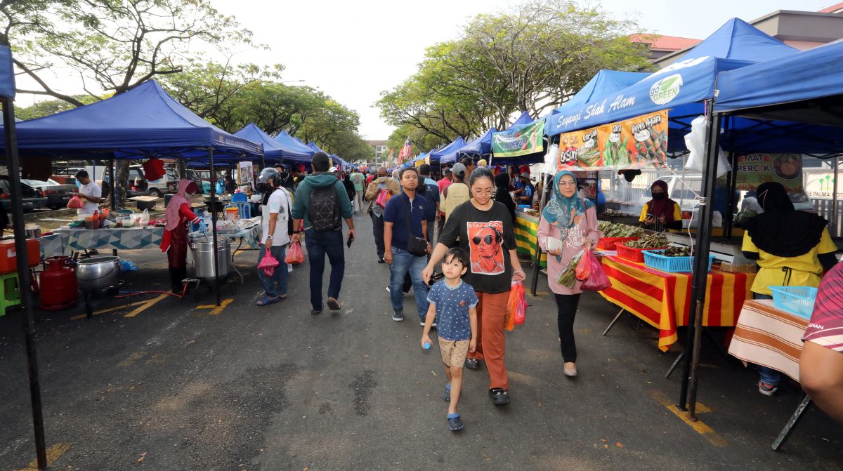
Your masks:
M 709 123 L 709 128 L 706 133 L 706 167 L 703 169 L 702 178 L 702 195 L 705 201 L 700 204 L 700 225 L 697 227 L 696 232 L 696 253 L 694 254 L 690 312 L 688 313 L 688 342 L 686 348 L 691 349 L 691 355 L 685 356 L 685 367 L 682 369 L 682 388 L 679 395 L 679 409 L 688 410 L 692 420 L 696 420 L 696 389 L 699 380 L 700 340 L 704 313 L 703 308 L 706 301 L 706 284 L 708 282 L 711 217 L 714 211 L 712 199 L 714 197 L 715 177 L 717 175 L 717 154 L 720 149 L 721 116 L 713 114 L 711 100 L 706 100 L 706 120 Z M 686 407 L 688 403 L 690 403 L 690 409 Z

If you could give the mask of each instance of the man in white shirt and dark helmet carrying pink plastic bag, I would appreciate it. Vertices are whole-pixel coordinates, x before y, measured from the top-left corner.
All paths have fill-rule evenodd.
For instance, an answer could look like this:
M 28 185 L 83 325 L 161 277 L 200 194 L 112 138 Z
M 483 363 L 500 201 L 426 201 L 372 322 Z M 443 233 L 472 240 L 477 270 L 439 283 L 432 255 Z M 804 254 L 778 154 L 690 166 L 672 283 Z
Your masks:
M 266 292 L 264 297 L 257 302 L 258 306 L 266 306 L 287 298 L 289 275 L 287 263 L 284 260 L 287 258 L 287 245 L 290 244 L 290 211 L 293 205 L 290 203 L 290 196 L 280 183 L 281 177 L 276 169 L 266 168 L 260 171 L 258 190 L 261 193 L 271 192 L 271 194 L 266 204 L 261 206 L 261 246 L 258 263 L 260 264 L 260 260 L 263 260 L 268 250 L 272 257 L 278 260 L 278 266 L 275 267 L 272 276 L 266 276 L 263 269 L 258 269 L 258 277 Z

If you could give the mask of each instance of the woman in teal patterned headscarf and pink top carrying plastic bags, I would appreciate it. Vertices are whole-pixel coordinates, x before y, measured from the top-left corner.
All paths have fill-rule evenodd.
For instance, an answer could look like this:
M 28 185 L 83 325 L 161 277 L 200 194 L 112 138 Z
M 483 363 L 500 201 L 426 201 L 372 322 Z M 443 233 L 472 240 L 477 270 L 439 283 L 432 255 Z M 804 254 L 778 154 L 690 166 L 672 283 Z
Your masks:
M 572 258 L 583 249 L 597 244 L 600 232 L 594 203 L 577 195 L 574 174 L 562 170 L 553 178 L 550 201 L 541 211 L 537 238 L 539 246 L 547 252 L 547 284 L 556 297 L 556 324 L 559 327 L 559 345 L 564 372 L 567 377 L 577 376 L 577 343 L 574 340 L 574 318 L 583 292 L 583 281 L 569 288 L 556 280 Z

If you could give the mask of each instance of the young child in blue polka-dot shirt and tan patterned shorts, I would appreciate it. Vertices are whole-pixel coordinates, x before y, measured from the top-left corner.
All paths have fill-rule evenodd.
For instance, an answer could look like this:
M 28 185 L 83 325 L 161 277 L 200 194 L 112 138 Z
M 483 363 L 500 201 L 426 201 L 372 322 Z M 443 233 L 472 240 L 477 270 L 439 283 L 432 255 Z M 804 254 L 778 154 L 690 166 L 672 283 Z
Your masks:
M 448 404 L 448 428 L 463 430 L 463 421 L 457 414 L 459 390 L 463 385 L 463 365 L 469 351 L 477 347 L 477 295 L 474 288 L 462 281 L 460 276 L 468 270 L 469 257 L 463 249 L 448 249 L 442 259 L 444 280 L 437 281 L 427 293 L 430 308 L 421 334 L 421 346 L 431 345 L 430 328 L 433 319 L 437 321 L 439 351 L 445 364 L 448 383 L 442 399 Z

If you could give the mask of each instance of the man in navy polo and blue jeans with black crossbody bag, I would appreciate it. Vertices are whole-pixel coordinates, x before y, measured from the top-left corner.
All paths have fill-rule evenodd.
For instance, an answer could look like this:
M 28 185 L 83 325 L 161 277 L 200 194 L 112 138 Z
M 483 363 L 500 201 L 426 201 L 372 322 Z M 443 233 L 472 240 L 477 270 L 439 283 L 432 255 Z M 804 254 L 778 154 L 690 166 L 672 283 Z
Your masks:
M 418 171 L 411 167 L 400 172 L 402 192 L 389 198 L 384 208 L 384 260 L 389 264 L 389 300 L 394 311 L 392 320 L 404 320 L 404 292 L 401 286 L 410 273 L 413 292 L 416 295 L 421 325 L 427 316 L 427 283 L 421 278 L 421 270 L 427 265 L 427 254 L 431 252 L 427 241 L 427 254 L 413 255 L 407 251 L 407 239 L 424 238 L 427 233 L 427 198 L 416 195 L 419 185 Z M 407 220 L 410 221 L 410 233 L 407 233 Z

